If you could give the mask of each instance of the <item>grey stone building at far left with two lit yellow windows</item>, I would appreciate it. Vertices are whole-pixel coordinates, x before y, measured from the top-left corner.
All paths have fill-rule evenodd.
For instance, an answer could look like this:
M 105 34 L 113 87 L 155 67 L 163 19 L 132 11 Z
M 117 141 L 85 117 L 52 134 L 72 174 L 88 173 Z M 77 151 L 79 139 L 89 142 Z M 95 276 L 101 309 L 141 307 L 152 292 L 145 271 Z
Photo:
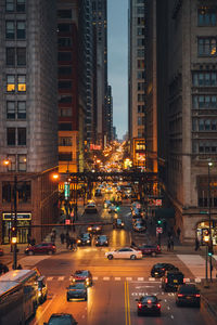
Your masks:
M 56 217 L 56 5 L 53 0 L 0 2 L 0 240 L 41 240 Z M 8 159 L 8 167 L 3 160 Z M 15 192 L 14 192 L 15 185 Z M 14 203 L 17 203 L 14 208 Z

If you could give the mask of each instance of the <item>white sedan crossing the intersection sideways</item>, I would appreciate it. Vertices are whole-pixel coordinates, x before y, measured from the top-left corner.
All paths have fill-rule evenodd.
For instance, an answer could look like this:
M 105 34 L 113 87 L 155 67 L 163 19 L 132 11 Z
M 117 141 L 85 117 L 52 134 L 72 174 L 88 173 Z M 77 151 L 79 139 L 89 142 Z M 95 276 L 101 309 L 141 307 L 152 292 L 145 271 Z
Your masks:
M 136 250 L 131 247 L 123 247 L 123 248 L 119 248 L 119 249 L 115 249 L 113 251 L 106 251 L 105 257 L 108 260 L 112 260 L 112 259 L 136 260 L 136 259 L 141 259 L 142 258 L 142 251 L 141 250 Z

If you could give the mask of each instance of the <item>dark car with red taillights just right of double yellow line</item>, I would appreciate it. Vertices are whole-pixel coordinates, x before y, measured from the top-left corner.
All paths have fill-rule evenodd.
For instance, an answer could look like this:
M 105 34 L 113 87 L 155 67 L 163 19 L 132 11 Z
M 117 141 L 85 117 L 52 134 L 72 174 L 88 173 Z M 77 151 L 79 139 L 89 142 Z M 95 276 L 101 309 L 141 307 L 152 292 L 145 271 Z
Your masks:
M 161 299 L 158 299 L 156 296 L 142 296 L 139 299 L 136 299 L 136 301 L 138 316 L 145 314 L 154 314 L 161 316 Z

